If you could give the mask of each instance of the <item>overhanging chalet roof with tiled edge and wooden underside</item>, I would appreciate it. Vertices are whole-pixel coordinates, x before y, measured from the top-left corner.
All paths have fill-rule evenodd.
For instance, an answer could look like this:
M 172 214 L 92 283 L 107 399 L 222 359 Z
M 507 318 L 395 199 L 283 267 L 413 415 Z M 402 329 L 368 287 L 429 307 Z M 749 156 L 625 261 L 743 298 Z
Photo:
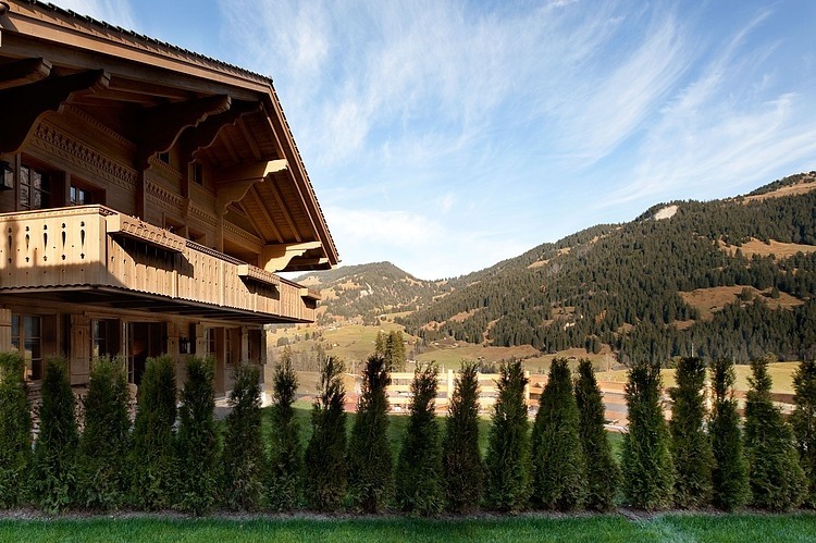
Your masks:
M 245 221 L 255 233 L 251 244 L 284 252 L 294 247 L 298 252 L 282 271 L 338 262 L 270 77 L 51 3 L 0 0 L 0 67 L 13 61 L 28 62 L 38 77 L 85 85 L 61 103 L 124 135 L 141 168 L 181 144 L 186 158 L 224 172 L 223 178 L 264 172 L 269 183 L 222 184 L 222 211 Z M 174 126 L 166 126 L 169 116 Z M 197 134 L 184 132 L 188 126 Z M 13 151 L 15 143 L 0 135 L 0 152 Z M 271 163 L 283 165 L 272 171 Z

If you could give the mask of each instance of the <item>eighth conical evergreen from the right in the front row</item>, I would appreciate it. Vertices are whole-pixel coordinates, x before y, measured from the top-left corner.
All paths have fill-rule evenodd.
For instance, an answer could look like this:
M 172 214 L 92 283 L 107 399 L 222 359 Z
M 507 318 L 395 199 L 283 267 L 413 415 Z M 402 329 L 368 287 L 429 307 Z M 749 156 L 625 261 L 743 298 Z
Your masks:
M 527 507 L 532 492 L 530 432 L 524 402 L 528 382 L 520 360 L 502 363 L 485 458 L 487 504 L 497 510 L 520 511 Z

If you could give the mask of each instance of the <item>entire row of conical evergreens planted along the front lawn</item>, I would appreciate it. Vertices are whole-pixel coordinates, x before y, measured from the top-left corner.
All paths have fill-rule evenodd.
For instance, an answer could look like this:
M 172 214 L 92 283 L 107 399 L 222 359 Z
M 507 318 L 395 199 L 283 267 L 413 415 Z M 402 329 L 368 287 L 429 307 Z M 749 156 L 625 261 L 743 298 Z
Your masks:
M 532 424 L 523 366 L 504 362 L 484 456 L 475 362 L 462 362 L 442 423 L 434 406 L 438 368 L 418 366 L 398 452 L 386 437 L 390 369 L 378 354 L 363 369 L 350 433 L 344 365 L 324 359 L 305 446 L 293 408 L 297 375 L 287 356 L 274 371 L 269 443 L 261 431 L 257 368 L 235 368 L 232 409 L 219 431 L 211 360 L 188 359 L 176 398 L 172 360 L 150 359 L 133 424 L 121 362 L 95 362 L 81 431 L 65 360 L 49 359 L 32 444 L 23 359 L 16 353 L 0 355 L 0 507 L 436 515 L 603 511 L 619 505 L 647 510 L 752 505 L 774 511 L 816 506 L 815 361 L 802 362 L 794 375 L 795 409 L 789 419 L 770 399 L 768 359 L 752 361 L 743 419 L 733 397 L 732 362 L 718 359 L 706 367 L 701 358 L 682 358 L 677 386 L 669 391 L 668 422 L 660 366 L 633 363 L 619 461 L 589 360 L 580 361 L 577 374 L 566 359 L 553 361 Z

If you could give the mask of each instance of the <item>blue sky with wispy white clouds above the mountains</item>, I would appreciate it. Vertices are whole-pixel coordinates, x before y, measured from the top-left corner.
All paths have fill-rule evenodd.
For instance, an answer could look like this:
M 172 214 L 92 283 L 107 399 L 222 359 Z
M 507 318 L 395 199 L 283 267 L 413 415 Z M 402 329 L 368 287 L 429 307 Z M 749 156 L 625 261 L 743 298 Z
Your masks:
M 343 264 L 465 274 L 816 170 L 812 0 L 57 0 L 271 76 Z

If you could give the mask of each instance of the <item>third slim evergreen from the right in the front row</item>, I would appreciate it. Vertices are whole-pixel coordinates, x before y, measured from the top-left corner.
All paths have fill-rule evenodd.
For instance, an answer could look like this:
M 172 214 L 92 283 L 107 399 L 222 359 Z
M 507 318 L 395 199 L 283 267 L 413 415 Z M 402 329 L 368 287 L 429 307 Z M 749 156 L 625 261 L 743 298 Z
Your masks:
M 725 510 L 742 507 L 751 499 L 747 460 L 743 449 L 737 399 L 733 397 L 734 382 L 733 362 L 728 359 L 716 359 L 712 362 L 714 406 L 708 432 L 714 456 L 713 503 Z

